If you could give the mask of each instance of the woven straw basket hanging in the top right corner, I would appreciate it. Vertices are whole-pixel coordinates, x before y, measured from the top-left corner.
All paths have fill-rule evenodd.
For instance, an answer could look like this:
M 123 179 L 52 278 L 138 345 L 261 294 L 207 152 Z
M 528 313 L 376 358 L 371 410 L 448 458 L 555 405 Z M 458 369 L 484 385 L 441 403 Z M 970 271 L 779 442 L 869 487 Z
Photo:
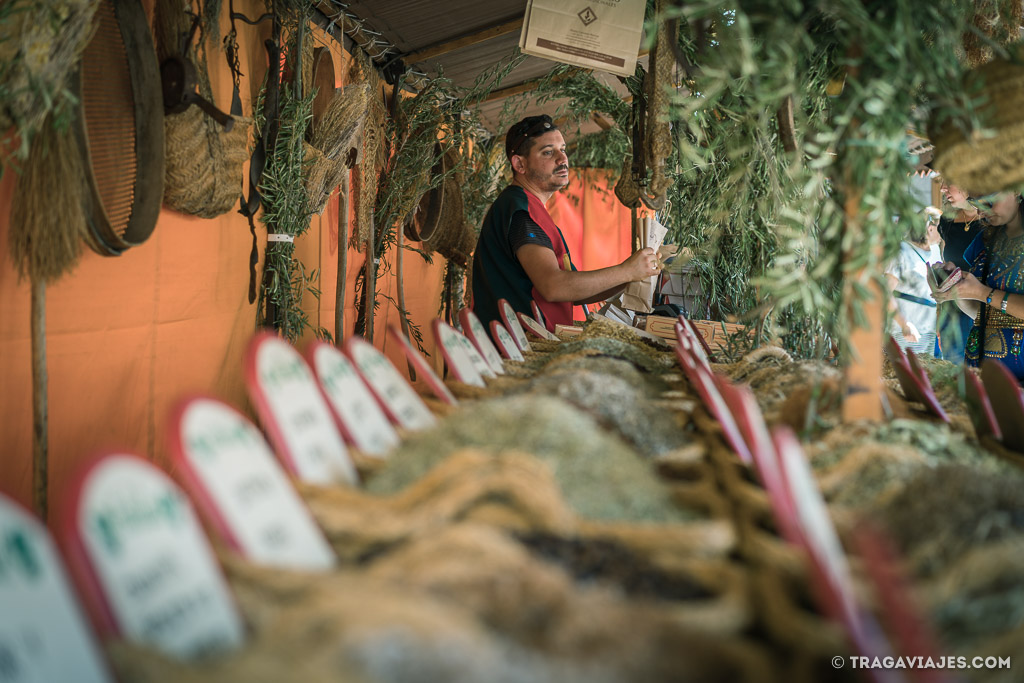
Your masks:
M 1017 59 L 1024 50 L 1011 50 Z M 1024 185 L 1024 63 L 996 59 L 971 71 L 966 89 L 980 88 L 984 130 L 965 133 L 946 122 L 930 126 L 935 144 L 932 166 L 949 182 L 973 195 Z

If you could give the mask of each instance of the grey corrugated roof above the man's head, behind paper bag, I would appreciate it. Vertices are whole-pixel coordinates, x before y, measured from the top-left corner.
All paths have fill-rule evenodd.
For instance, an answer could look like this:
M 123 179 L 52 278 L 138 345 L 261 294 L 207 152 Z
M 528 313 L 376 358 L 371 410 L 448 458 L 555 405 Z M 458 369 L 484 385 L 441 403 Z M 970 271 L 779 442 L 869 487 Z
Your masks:
M 510 22 L 521 20 L 526 9 L 526 0 L 328 0 L 319 4 L 343 6 L 356 15 L 362 25 L 381 35 L 381 38 L 406 55 L 453 41 L 465 36 Z M 477 77 L 503 59 L 509 58 L 519 44 L 520 30 L 489 38 L 469 46 L 444 52 L 438 56 L 414 60 L 407 65 L 419 72 L 434 77 L 441 73 L 456 85 L 470 86 Z M 397 56 L 397 55 L 393 55 Z M 392 55 L 389 55 L 391 58 Z M 532 55 L 526 56 L 501 84 L 508 88 L 543 77 L 555 61 Z M 617 79 L 602 74 L 601 80 L 615 87 L 624 96 L 626 89 Z M 544 106 L 527 101 L 521 116 L 542 112 L 553 113 L 560 101 L 552 101 Z M 499 119 L 506 102 L 492 100 L 478 106 L 484 125 L 492 132 L 503 134 Z M 585 123 L 582 132 L 596 132 L 600 128 L 594 123 Z

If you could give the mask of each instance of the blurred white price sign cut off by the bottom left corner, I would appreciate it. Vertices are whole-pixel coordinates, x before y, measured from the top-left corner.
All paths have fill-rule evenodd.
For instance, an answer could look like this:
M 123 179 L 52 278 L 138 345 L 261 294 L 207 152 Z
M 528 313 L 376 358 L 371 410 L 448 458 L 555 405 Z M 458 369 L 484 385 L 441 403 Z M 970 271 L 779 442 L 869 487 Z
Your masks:
M 112 683 L 46 528 L 0 495 L 0 681 Z

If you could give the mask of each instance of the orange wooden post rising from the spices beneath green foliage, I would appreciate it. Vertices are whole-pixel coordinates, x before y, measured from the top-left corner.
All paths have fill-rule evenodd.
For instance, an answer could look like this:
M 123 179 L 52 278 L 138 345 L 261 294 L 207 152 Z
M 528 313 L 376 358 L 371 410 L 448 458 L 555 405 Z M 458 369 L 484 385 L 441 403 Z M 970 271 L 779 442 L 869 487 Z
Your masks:
M 850 244 L 863 240 L 860 229 L 860 197 L 859 187 L 853 187 L 849 182 L 846 187 L 846 227 Z M 872 246 L 874 262 L 882 256 L 882 245 Z M 844 261 L 847 256 L 844 255 Z M 871 278 L 870 263 L 853 272 L 846 273 L 843 284 L 843 314 L 846 317 L 846 329 L 850 334 L 848 349 L 850 357 L 845 367 L 843 421 L 877 420 L 885 417 L 883 409 L 882 384 L 882 349 L 885 335 L 885 298 L 882 287 Z M 863 283 L 870 292 L 870 298 L 861 301 L 859 306 L 864 315 L 864 325 L 858 326 L 855 316 L 856 292 L 855 283 Z

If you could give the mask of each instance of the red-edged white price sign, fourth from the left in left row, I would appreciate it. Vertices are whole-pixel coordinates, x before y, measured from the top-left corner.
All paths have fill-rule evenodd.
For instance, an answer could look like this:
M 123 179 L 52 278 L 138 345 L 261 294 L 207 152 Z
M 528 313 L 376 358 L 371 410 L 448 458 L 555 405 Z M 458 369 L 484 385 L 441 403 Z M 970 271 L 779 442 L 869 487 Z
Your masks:
M 246 353 L 246 383 L 285 467 L 302 481 L 357 483 L 331 409 L 302 355 L 269 333 L 257 335 Z

